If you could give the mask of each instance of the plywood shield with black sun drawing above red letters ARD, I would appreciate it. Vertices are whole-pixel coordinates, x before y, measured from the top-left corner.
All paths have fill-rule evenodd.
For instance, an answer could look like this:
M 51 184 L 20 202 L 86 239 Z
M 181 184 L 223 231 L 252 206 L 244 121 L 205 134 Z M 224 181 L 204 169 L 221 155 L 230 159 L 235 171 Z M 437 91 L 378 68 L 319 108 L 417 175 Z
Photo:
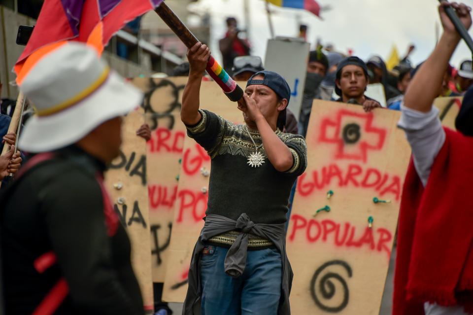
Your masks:
M 149 221 L 153 282 L 164 282 L 169 253 L 177 179 L 185 138 L 180 119 L 182 91 L 187 77 L 136 78 L 144 93 L 143 107 L 151 129 L 147 143 Z

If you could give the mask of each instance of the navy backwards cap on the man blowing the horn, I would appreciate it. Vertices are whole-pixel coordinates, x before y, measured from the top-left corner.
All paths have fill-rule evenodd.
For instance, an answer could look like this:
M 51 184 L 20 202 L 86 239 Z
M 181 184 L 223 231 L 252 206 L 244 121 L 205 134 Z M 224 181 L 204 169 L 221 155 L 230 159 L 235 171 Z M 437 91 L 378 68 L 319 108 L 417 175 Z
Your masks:
M 254 80 L 253 78 L 258 75 L 262 75 L 263 79 Z M 248 79 L 248 82 L 246 82 L 246 86 L 254 84 L 266 85 L 281 99 L 286 99 L 287 104 L 289 105 L 289 99 L 291 98 L 291 88 L 289 87 L 287 81 L 278 73 L 268 70 L 258 71 Z M 286 124 L 286 108 L 281 110 L 279 112 L 279 116 L 277 117 L 277 128 L 279 128 L 279 130 L 283 130 L 284 125 Z

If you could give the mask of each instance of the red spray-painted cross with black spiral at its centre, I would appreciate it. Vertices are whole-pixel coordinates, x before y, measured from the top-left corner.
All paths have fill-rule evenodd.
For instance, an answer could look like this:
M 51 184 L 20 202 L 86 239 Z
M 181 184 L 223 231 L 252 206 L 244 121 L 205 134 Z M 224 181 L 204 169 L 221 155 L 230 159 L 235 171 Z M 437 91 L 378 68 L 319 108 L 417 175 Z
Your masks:
M 337 145 L 336 159 L 367 161 L 369 150 L 381 150 L 386 130 L 372 125 L 373 113 L 339 110 L 335 120 L 326 117 L 320 126 L 319 142 Z

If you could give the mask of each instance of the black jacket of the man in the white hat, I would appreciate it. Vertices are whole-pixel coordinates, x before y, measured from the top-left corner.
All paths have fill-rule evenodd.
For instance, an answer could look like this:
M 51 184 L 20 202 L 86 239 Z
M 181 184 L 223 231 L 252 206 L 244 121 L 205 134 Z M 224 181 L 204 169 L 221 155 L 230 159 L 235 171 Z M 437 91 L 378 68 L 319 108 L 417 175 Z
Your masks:
M 104 168 L 68 147 L 33 166 L 0 196 L 7 315 L 32 314 L 61 278 L 69 293 L 54 314 L 144 314 L 130 241 L 102 194 Z M 34 261 L 50 251 L 57 263 L 39 273 Z

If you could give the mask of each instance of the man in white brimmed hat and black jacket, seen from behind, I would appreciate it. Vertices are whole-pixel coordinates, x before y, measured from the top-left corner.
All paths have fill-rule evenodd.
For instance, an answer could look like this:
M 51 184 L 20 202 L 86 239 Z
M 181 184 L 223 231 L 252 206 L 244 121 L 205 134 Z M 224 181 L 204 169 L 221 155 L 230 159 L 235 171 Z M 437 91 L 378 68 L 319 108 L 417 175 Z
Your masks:
M 35 153 L 1 197 L 6 314 L 144 314 L 130 241 L 103 185 L 141 93 L 84 44 L 43 56 L 21 91 Z

